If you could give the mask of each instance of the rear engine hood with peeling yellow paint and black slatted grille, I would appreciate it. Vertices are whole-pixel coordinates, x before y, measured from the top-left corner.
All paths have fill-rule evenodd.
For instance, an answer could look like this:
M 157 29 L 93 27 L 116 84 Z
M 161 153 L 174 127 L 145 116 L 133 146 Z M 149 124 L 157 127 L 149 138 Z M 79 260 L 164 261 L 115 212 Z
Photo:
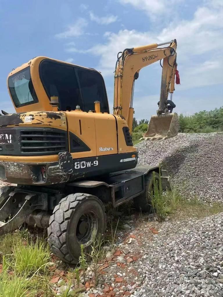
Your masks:
M 0 116 L 0 157 L 51 155 L 61 151 L 68 151 L 63 112 L 34 111 Z

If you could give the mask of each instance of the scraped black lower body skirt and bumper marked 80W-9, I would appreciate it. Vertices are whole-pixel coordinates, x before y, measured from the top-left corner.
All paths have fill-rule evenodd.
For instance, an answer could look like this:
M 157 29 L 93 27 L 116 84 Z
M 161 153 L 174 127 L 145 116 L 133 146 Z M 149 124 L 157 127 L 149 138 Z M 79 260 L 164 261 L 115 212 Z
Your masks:
M 0 162 L 0 180 L 12 184 L 52 185 L 135 168 L 136 165 L 137 152 L 81 159 L 72 159 L 69 152 L 60 152 L 56 162 Z

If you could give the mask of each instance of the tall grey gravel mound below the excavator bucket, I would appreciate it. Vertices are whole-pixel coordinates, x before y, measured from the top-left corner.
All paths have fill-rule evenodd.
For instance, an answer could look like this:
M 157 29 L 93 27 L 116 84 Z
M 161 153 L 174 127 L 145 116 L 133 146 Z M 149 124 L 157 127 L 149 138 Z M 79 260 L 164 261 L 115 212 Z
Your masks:
M 223 133 L 179 133 L 160 141 L 136 145 L 139 163 L 157 165 L 172 176 L 188 198 L 223 201 Z

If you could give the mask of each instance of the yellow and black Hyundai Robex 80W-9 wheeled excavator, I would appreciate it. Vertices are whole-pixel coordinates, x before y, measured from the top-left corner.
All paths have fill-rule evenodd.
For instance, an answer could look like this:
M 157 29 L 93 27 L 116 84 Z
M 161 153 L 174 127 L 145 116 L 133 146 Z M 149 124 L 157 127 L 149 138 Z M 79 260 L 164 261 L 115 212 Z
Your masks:
M 165 47 L 162 47 L 166 45 Z M 52 251 L 77 263 L 80 244 L 91 248 L 103 234 L 105 207 L 133 199 L 149 211 L 159 166 L 137 165 L 132 143 L 133 92 L 141 68 L 163 60 L 157 115 L 145 139 L 178 132 L 173 93 L 176 40 L 126 48 L 115 69 L 114 112 L 109 113 L 102 75 L 95 69 L 36 57 L 10 72 L 7 85 L 15 113 L 0 116 L 0 235 L 26 222 L 48 228 Z M 170 187 L 161 170 L 162 187 Z

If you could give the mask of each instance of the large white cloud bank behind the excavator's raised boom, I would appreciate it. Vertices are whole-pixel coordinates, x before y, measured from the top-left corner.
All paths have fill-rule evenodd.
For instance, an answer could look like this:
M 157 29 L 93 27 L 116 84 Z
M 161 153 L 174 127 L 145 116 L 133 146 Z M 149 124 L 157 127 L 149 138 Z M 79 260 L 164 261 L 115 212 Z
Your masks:
M 214 0 L 214 2 L 218 1 Z M 81 50 L 70 47 L 69 51 L 98 56 L 97 69 L 103 75 L 113 75 L 119 50 L 176 38 L 181 89 L 222 82 L 222 9 L 216 5 L 211 7 L 210 1 L 208 5 L 198 7 L 191 20 L 169 23 L 161 32 L 120 30 L 118 33 L 106 32 L 104 36 L 107 38 L 104 44 Z M 148 71 L 153 69 L 155 73 L 158 71 L 158 66 L 148 67 Z

